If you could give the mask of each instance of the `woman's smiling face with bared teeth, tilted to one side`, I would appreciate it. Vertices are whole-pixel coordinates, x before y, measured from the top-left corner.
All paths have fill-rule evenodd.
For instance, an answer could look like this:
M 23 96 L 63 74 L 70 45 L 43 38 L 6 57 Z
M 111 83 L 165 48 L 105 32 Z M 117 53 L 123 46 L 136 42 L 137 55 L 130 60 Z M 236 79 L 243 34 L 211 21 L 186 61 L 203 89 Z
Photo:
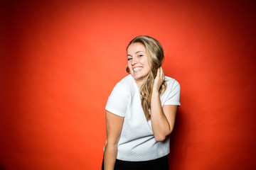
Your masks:
M 142 85 L 151 68 L 146 56 L 146 47 L 139 42 L 132 43 L 127 48 L 127 66 L 137 84 Z

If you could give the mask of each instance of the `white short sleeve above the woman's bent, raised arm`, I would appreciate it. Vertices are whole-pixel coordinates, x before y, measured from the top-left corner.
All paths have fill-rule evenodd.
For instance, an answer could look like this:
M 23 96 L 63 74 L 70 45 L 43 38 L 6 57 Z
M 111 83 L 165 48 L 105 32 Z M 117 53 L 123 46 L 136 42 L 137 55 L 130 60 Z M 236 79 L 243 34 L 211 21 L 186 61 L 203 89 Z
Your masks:
M 169 84 L 169 86 L 170 85 L 171 84 Z M 181 86 L 180 86 L 180 84 L 178 84 L 178 81 L 176 81 L 174 79 L 174 83 L 171 86 L 171 91 L 169 91 L 169 95 L 168 95 L 164 105 L 177 105 L 177 106 L 181 106 L 180 94 L 181 94 Z

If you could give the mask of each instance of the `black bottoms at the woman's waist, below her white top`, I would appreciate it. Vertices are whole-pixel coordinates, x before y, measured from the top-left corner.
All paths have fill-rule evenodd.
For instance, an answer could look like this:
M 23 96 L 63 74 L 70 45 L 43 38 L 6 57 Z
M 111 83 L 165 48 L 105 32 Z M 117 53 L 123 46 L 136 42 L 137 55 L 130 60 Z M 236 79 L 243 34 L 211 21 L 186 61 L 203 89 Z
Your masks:
M 104 170 L 103 164 L 104 159 L 102 170 Z M 169 170 L 169 164 L 167 156 L 143 162 L 127 162 L 117 159 L 114 170 Z

